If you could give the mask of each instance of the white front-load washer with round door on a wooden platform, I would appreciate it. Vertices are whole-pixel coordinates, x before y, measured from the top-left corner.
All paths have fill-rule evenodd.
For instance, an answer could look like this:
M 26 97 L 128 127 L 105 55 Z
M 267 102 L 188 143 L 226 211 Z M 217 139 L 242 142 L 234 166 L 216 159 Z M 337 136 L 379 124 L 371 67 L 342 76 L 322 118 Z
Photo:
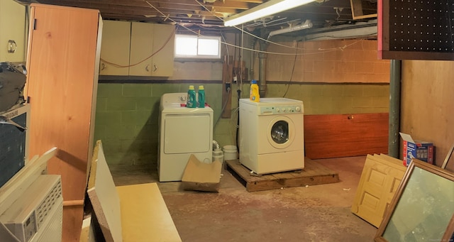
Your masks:
M 303 101 L 240 99 L 240 163 L 257 174 L 304 168 Z

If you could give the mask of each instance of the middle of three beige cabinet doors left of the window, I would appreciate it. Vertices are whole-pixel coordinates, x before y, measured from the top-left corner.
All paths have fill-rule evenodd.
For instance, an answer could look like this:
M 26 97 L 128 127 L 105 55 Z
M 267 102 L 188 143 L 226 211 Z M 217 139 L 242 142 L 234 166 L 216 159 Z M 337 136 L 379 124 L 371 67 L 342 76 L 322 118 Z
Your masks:
M 155 24 L 133 22 L 129 75 L 153 76 L 152 55 Z

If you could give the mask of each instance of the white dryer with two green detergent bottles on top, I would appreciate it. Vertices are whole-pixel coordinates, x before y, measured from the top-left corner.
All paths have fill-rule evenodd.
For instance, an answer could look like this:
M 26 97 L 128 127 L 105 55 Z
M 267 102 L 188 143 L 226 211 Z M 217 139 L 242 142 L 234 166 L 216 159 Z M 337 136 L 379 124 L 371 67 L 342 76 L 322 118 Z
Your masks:
M 160 99 L 160 182 L 181 181 L 191 154 L 204 163 L 213 157 L 213 109 L 187 108 L 186 100 L 187 93 L 167 93 Z

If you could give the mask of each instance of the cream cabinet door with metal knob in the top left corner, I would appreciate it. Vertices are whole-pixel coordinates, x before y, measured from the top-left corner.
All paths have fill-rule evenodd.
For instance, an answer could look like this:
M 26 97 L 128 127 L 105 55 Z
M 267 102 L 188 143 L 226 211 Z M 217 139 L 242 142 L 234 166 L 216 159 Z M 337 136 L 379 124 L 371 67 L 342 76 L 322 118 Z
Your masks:
M 26 6 L 0 1 L 0 62 L 25 62 Z

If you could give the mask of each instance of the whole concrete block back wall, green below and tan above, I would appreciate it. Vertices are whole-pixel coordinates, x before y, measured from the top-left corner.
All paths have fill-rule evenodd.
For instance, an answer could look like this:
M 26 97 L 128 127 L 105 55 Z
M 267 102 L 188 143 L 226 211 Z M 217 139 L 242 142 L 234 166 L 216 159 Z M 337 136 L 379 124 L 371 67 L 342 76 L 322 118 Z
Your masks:
M 311 56 L 297 55 L 294 75 L 290 79 L 294 55 L 267 56 L 266 97 L 287 97 L 304 101 L 304 113 L 309 114 L 365 114 L 387 112 L 389 106 L 389 62 L 372 57 L 375 43 L 332 40 L 331 44 L 304 43 L 314 50 L 348 45 L 362 45 L 360 49 Z M 372 41 L 374 42 L 374 41 Z M 302 45 L 302 43 L 299 43 Z M 369 46 L 370 45 L 370 46 Z M 372 47 L 371 47 L 372 46 Z M 301 48 L 301 46 L 299 46 Z M 307 48 L 307 47 L 306 47 Z M 269 51 L 273 50 L 270 46 Z M 287 50 L 288 51 L 288 50 Z M 300 50 L 299 50 L 300 51 Z M 305 50 L 306 51 L 306 50 Z M 307 50 L 309 53 L 309 50 Z M 362 66 L 363 61 L 367 64 Z M 303 58 L 304 57 L 304 58 Z M 322 61 L 323 58 L 336 59 Z M 355 57 L 355 58 L 353 58 Z M 355 59 L 355 60 L 353 60 Z M 255 62 L 258 63 L 258 62 Z M 272 64 L 274 63 L 274 64 Z M 271 69 L 270 66 L 273 66 Z M 248 65 L 247 65 L 248 66 Z M 189 84 L 203 84 L 206 101 L 214 109 L 214 140 L 223 145 L 236 145 L 238 97 L 233 85 L 231 119 L 218 119 L 223 104 L 223 85 L 220 62 L 175 62 L 175 75 L 162 81 L 148 83 L 100 83 L 96 105 L 95 140 L 101 139 L 109 165 L 155 164 L 157 162 L 157 133 L 159 102 L 162 94 L 187 92 Z M 348 77 L 349 72 L 377 72 L 377 76 L 362 79 Z M 341 72 L 345 72 L 341 75 Z M 383 74 L 382 72 L 386 72 Z M 258 67 L 255 67 L 255 74 Z M 367 73 L 363 73 L 364 75 Z M 318 76 L 317 76 L 318 75 Z M 329 77 L 329 78 L 328 78 Z M 336 78 L 335 78 L 336 77 Z M 338 79 L 337 77 L 343 77 Z M 256 77 L 255 77 L 256 78 Z M 128 81 L 125 81 L 128 82 Z M 241 97 L 249 97 L 249 82 L 240 85 Z

